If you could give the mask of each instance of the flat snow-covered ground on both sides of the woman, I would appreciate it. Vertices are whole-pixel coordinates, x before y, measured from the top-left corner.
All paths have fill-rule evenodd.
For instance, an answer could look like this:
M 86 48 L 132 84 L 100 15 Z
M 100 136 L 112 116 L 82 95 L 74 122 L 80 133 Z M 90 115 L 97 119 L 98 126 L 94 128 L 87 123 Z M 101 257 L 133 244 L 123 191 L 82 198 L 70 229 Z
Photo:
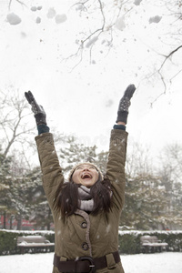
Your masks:
M 0 273 L 51 273 L 54 253 L 0 256 Z M 182 253 L 121 256 L 125 273 L 181 273 Z

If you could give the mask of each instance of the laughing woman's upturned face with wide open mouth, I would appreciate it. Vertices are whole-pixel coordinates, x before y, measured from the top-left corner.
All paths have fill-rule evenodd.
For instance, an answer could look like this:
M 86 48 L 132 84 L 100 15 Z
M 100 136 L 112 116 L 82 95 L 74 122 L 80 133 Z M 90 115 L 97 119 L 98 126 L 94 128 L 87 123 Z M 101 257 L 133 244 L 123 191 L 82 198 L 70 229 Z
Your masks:
M 98 171 L 94 166 L 81 164 L 76 167 L 76 170 L 72 175 L 72 180 L 76 184 L 91 187 L 98 180 Z

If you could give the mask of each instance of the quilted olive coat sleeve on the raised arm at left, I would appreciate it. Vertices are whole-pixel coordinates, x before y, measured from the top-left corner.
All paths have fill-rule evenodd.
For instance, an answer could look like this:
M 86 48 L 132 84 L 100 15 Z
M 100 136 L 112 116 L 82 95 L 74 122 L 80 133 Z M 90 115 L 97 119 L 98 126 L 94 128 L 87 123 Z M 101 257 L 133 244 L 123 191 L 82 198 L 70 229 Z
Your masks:
M 53 209 L 54 202 L 56 201 L 56 192 L 61 184 L 64 183 L 62 168 L 59 165 L 54 139 L 51 133 L 35 136 L 35 142 L 43 175 L 45 196 L 47 197 L 49 206 Z

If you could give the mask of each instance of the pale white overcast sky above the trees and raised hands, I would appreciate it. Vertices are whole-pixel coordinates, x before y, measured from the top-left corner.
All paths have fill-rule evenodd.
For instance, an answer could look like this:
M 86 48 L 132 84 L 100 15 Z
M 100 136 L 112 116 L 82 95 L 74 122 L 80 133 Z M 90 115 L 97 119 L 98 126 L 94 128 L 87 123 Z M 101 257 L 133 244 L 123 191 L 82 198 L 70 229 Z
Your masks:
M 79 58 L 67 61 L 63 58 L 76 53 L 76 40 L 82 38 L 84 31 L 88 28 L 93 31 L 102 25 L 100 15 L 91 13 L 89 20 L 86 14 L 80 17 L 76 6 L 70 8 L 76 1 L 25 2 L 26 6 L 22 6 L 12 1 L 10 10 L 7 1 L 0 2 L 2 90 L 8 90 L 9 86 L 22 94 L 31 90 L 37 102 L 44 106 L 50 127 L 57 126 L 60 133 L 75 134 L 86 145 L 96 144 L 106 150 L 119 99 L 126 86 L 133 83 L 137 90 L 128 117 L 130 139 L 146 143 L 155 153 L 167 143 L 181 143 L 180 74 L 170 87 L 167 86 L 167 95 L 160 96 L 152 108 L 150 104 L 164 91 L 164 86 L 157 76 L 149 81 L 144 79 L 146 73 L 152 72 L 163 60 L 156 52 L 170 52 L 167 24 L 172 19 L 164 16 L 167 11 L 161 5 L 163 1 L 157 1 L 157 5 L 142 5 L 143 2 L 132 5 L 132 11 L 124 16 L 126 27 L 122 31 L 114 27 L 114 46 L 108 51 L 106 39 L 109 35 L 101 35 L 93 47 L 91 63 L 90 48 L 86 48 L 78 66 Z M 111 3 L 108 0 L 108 10 Z M 31 11 L 31 6 L 40 5 L 41 10 Z M 66 15 L 66 22 L 56 24 L 55 17 L 47 18 L 52 7 L 56 15 Z M 22 22 L 10 25 L 6 15 L 11 13 L 18 15 Z M 108 20 L 109 15 L 106 13 Z M 124 12 L 121 11 L 121 15 Z M 158 24 L 149 24 L 149 18 L 155 15 L 162 16 L 162 20 Z M 37 17 L 41 18 L 40 24 L 36 24 Z M 181 55 L 178 52 L 173 57 L 176 67 L 171 68 L 171 63 L 167 63 L 167 83 L 181 69 Z M 72 70 L 74 66 L 76 68 Z

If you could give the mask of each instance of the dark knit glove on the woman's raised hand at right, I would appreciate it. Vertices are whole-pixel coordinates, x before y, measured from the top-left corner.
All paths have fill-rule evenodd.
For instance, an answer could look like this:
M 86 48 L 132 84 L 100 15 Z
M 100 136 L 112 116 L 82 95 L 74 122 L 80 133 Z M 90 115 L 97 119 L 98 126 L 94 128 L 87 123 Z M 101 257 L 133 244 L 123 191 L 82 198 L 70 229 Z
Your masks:
M 120 102 L 119 102 L 116 122 L 122 121 L 125 124 L 127 123 L 128 108 L 131 104 L 130 99 L 133 96 L 135 90 L 136 90 L 136 86 L 134 86 L 134 85 L 127 86 L 125 94 L 120 99 Z

